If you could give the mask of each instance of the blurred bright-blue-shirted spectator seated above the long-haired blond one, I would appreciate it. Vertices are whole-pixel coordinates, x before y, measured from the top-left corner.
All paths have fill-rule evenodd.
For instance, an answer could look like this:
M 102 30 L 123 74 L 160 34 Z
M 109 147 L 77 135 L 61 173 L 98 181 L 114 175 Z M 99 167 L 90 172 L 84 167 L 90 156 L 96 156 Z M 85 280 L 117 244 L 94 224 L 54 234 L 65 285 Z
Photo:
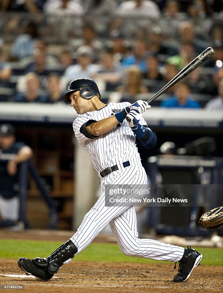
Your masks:
M 144 40 L 135 40 L 133 44 L 132 54 L 126 56 L 122 60 L 122 66 L 128 67 L 130 65 L 137 65 L 142 72 L 146 72 L 148 70 L 147 63 L 147 46 Z

